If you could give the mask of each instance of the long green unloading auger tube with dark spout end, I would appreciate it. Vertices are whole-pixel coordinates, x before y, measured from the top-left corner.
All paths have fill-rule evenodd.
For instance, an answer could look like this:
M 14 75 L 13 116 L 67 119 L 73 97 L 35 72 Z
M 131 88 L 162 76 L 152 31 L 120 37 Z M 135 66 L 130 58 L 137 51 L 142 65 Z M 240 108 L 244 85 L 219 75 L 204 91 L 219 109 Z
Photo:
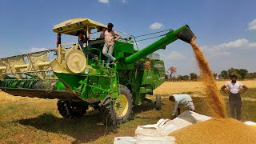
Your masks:
M 137 62 L 139 59 L 146 57 L 148 54 L 154 53 L 154 51 L 163 49 L 171 42 L 181 39 L 184 42 L 190 43 L 192 38 L 196 38 L 189 26 L 182 26 L 178 30 L 170 30 L 164 38 L 159 39 L 157 42 L 152 43 L 150 46 L 146 46 L 144 49 L 139 50 L 137 53 L 130 55 L 125 59 L 125 64 L 131 64 Z

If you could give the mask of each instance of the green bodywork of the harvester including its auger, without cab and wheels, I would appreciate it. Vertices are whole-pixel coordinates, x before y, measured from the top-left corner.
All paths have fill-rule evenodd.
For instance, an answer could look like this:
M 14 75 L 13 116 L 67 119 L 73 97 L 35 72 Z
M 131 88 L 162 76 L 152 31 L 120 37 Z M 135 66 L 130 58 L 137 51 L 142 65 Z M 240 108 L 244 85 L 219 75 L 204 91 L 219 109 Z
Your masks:
M 70 100 L 74 98 L 71 95 L 75 95 L 80 98 L 79 100 L 86 101 L 90 105 L 103 101 L 107 96 L 112 99 L 118 98 L 118 85 L 122 84 L 131 91 L 134 104 L 139 105 L 143 101 L 147 101 L 146 94 L 152 95 L 153 90 L 165 81 L 164 62 L 159 59 L 146 58 L 146 56 L 156 50 L 165 49 L 166 45 L 178 38 L 190 42 L 190 39 L 194 38 L 194 34 L 188 26 L 182 26 L 178 30 L 170 30 L 164 38 L 139 51 L 134 50 L 132 41 L 119 39 L 118 42 L 115 42 L 113 53 L 117 60 L 114 65 L 110 65 L 110 68 L 106 68 L 107 58 L 102 54 L 104 40 L 101 38 L 90 40 L 89 50 L 94 55 L 86 55 L 87 67 L 82 73 L 54 71 L 58 79 L 43 82 L 35 77 L 31 77 L 29 80 L 8 78 L 0 81 L 0 88 L 40 89 L 46 92 L 47 90 L 62 90 L 63 93 L 70 94 Z M 150 62 L 150 70 L 145 68 L 147 61 Z

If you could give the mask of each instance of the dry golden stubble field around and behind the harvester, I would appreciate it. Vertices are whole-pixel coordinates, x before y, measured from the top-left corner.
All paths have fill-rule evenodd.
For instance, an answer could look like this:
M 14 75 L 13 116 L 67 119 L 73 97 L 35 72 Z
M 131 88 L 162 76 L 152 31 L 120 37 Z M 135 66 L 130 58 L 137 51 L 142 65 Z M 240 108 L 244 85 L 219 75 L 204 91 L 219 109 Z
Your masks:
M 218 81 L 218 89 L 227 81 Z M 242 120 L 256 122 L 256 81 L 242 81 L 249 89 L 242 94 Z M 57 100 L 14 97 L 0 92 L 0 143 L 113 143 L 114 137 L 134 136 L 138 125 L 170 118 L 170 94 L 190 94 L 199 114 L 209 114 L 204 105 L 202 82 L 165 82 L 154 90 L 162 95 L 164 106 L 156 112 L 154 105 L 144 103 L 134 107 L 134 118 L 119 126 L 106 127 L 100 114 L 88 111 L 80 119 L 67 120 L 58 114 Z M 230 116 L 227 96 L 226 110 Z

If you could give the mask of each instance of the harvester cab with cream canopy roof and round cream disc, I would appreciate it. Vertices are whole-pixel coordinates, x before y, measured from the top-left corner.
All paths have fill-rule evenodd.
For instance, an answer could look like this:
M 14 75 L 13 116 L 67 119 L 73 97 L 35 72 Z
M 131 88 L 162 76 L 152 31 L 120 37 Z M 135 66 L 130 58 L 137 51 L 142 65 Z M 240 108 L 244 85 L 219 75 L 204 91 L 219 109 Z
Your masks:
M 53 28 L 53 31 L 57 33 L 57 49 L 58 49 L 58 58 L 73 58 L 67 60 L 68 62 L 66 64 L 67 68 L 73 72 L 73 73 L 81 73 L 82 70 L 85 69 L 86 65 L 90 65 L 91 61 L 86 61 L 87 59 L 94 59 L 95 61 L 98 61 L 99 58 L 101 58 L 101 52 L 100 50 L 97 50 L 95 48 L 91 47 L 91 42 L 94 42 L 97 40 L 97 33 L 101 32 L 103 28 L 106 28 L 106 25 L 103 25 L 102 23 L 95 22 L 89 18 L 73 18 L 70 20 L 67 20 L 65 22 L 61 22 L 58 25 L 55 25 Z M 90 34 L 92 34 L 92 31 L 94 35 L 96 35 L 95 38 L 90 38 Z M 72 42 L 72 43 L 62 43 L 61 41 L 61 35 L 67 34 L 71 36 L 76 36 L 78 38 L 78 42 Z M 71 45 L 71 50 L 66 50 L 64 47 Z M 62 57 L 62 51 L 65 51 L 65 54 L 70 53 L 67 51 L 72 51 L 72 54 L 70 53 L 68 56 Z M 75 51 L 74 51 L 75 50 Z M 78 52 L 78 50 L 82 51 Z M 97 51 L 96 51 L 97 50 Z M 93 54 L 92 52 L 95 51 L 97 54 Z M 74 56 L 75 55 L 75 56 Z M 82 55 L 85 55 L 83 57 Z M 62 62 L 61 59 L 56 59 L 58 62 Z M 57 62 L 57 61 L 56 61 Z M 55 63 L 56 63 L 55 62 Z M 75 64 L 75 66 L 70 66 L 72 64 Z

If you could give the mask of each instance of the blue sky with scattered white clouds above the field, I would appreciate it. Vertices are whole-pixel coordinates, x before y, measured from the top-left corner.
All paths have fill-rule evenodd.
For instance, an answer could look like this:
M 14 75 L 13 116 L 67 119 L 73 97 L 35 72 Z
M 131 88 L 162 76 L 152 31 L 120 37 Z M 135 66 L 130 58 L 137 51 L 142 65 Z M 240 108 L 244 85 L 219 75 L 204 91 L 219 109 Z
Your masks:
M 128 34 L 176 30 L 188 24 L 213 72 L 230 67 L 256 71 L 256 1 L 145 1 L 2 0 L 0 5 L 0 58 L 34 50 L 54 48 L 52 27 L 70 18 L 91 18 Z M 76 41 L 63 38 L 62 41 Z M 156 39 L 138 42 L 139 48 Z M 158 50 L 166 67 L 178 74 L 198 73 L 193 51 L 180 40 Z

